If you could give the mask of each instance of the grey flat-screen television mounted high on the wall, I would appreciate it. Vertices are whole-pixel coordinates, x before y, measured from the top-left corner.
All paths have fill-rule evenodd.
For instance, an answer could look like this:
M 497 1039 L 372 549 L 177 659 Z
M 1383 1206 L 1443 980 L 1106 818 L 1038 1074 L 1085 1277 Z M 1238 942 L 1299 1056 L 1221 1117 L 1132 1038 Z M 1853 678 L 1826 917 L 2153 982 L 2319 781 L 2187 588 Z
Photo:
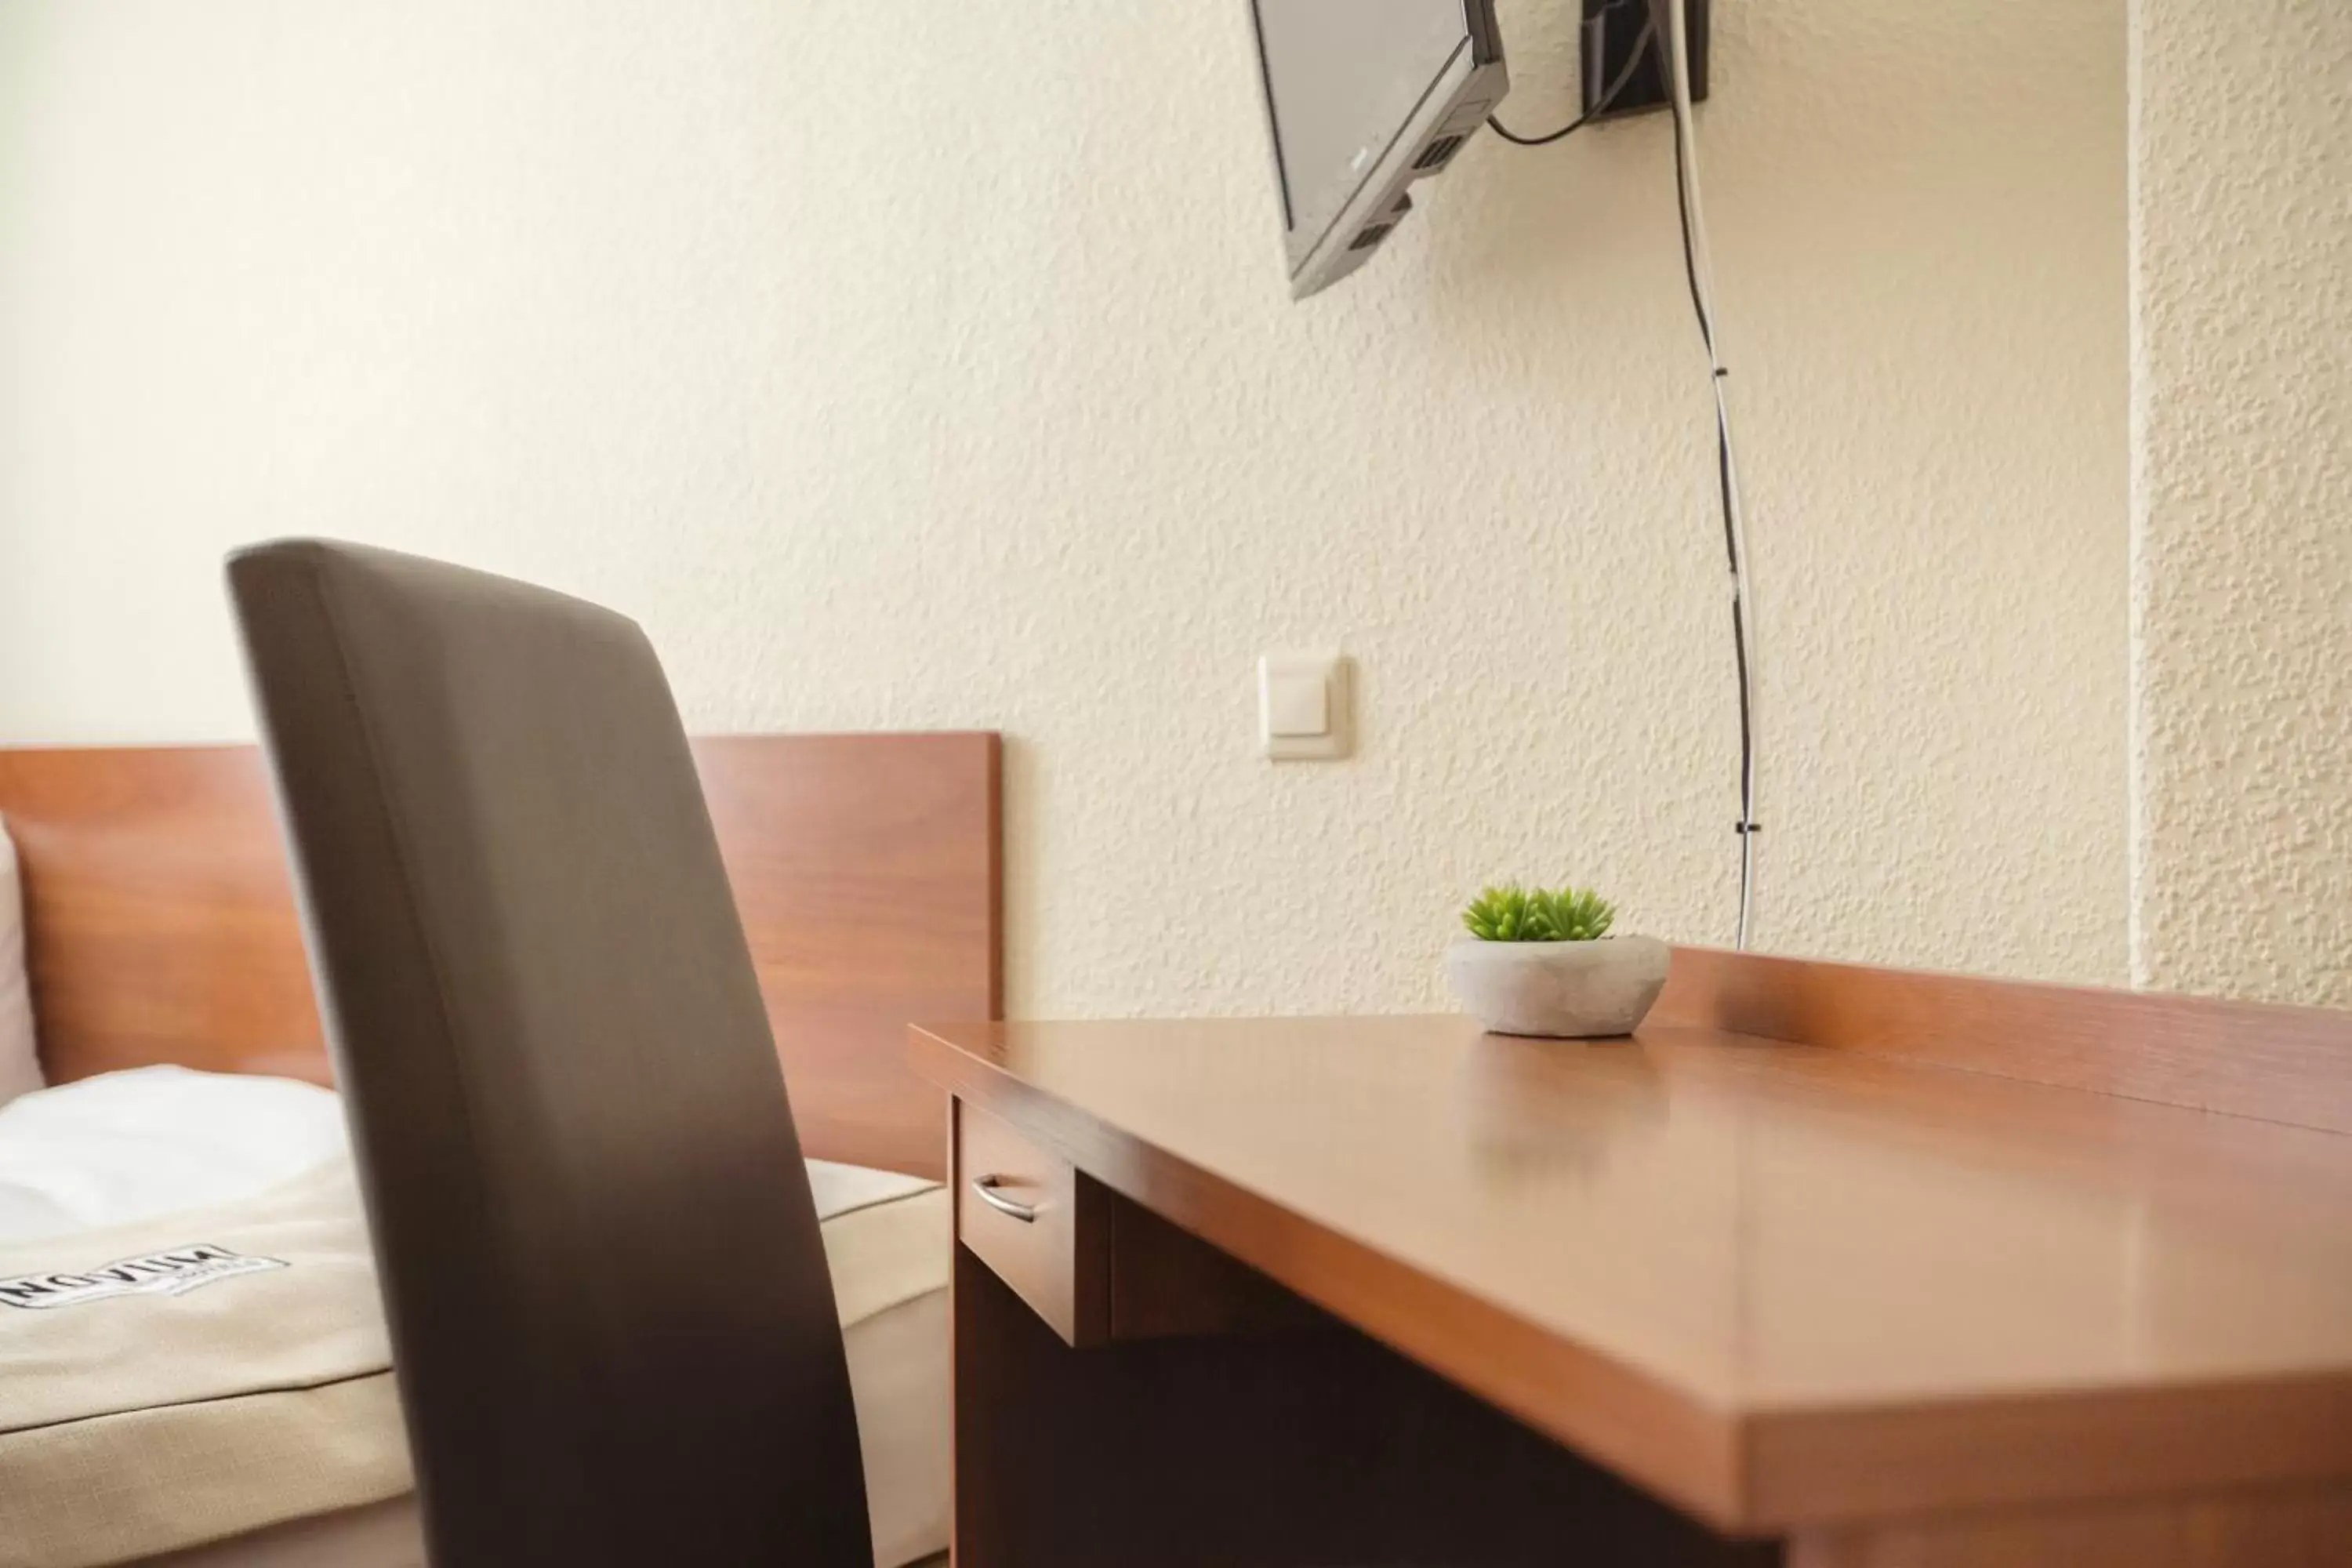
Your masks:
M 1494 0 L 1251 0 L 1291 296 L 1364 266 L 1503 101 Z

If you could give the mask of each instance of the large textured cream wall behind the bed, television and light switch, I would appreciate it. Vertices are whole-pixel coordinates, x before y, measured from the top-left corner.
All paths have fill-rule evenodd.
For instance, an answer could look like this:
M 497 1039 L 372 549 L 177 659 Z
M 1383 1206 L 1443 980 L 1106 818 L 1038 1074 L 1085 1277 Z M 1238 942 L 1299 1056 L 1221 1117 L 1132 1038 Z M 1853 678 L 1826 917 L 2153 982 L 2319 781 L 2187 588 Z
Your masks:
M 1719 12 L 1762 938 L 2122 978 L 2122 0 Z M 247 733 L 216 559 L 325 531 L 628 609 L 699 726 L 1009 731 L 1025 1013 L 1430 1004 L 1498 875 L 1729 936 L 1663 122 L 1482 139 L 1294 308 L 1240 0 L 0 28 L 0 738 Z M 1355 762 L 1251 757 L 1291 644 Z

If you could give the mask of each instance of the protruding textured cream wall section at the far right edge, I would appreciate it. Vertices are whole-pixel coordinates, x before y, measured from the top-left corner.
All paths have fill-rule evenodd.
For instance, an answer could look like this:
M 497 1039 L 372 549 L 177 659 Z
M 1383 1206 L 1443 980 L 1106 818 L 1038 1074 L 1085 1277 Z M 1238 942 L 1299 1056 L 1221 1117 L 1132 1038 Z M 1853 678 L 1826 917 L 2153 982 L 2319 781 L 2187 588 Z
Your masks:
M 2133 7 L 2133 980 L 2352 1006 L 2352 7 Z

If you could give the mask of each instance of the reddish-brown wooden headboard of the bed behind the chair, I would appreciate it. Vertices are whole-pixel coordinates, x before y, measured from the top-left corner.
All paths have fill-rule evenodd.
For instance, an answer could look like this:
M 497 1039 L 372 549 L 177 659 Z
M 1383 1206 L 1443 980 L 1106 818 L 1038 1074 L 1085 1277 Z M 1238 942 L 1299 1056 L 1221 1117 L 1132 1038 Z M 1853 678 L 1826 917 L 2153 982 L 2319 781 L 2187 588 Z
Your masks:
M 906 1025 L 1002 1016 L 993 733 L 694 743 L 800 1140 L 938 1175 Z M 249 745 L 0 750 L 52 1084 L 151 1063 L 329 1081 Z

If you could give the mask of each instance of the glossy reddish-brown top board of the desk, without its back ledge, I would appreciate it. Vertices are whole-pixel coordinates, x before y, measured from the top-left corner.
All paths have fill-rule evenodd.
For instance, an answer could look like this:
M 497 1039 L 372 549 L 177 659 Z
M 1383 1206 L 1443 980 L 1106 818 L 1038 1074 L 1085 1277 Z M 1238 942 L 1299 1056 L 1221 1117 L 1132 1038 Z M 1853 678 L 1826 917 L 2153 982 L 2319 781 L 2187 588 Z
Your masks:
M 1724 1526 L 2352 1474 L 2352 1135 L 1691 1025 L 915 1058 Z

